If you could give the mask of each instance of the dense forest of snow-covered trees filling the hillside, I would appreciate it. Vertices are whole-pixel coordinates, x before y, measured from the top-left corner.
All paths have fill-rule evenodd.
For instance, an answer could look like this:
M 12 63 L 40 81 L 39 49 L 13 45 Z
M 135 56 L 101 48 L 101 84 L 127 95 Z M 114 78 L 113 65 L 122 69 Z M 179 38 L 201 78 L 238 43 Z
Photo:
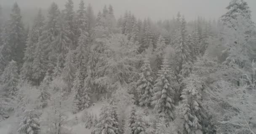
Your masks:
M 227 10 L 155 22 L 67 0 L 27 31 L 14 3 L 0 16 L 0 121 L 24 113 L 18 134 L 62 134 L 67 113 L 104 98 L 83 121 L 92 134 L 255 134 L 255 26 L 244 0 Z

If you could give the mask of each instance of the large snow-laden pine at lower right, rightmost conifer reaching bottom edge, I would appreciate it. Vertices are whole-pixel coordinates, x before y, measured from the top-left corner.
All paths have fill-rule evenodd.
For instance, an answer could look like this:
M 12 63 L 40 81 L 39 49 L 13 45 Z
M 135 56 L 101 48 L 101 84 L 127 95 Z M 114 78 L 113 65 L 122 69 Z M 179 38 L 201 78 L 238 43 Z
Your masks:
M 200 119 L 202 119 L 202 109 L 200 104 L 200 88 L 202 84 L 198 80 L 198 76 L 191 74 L 183 81 L 186 86 L 182 90 L 181 103 L 182 115 L 184 118 L 185 134 L 203 134 Z

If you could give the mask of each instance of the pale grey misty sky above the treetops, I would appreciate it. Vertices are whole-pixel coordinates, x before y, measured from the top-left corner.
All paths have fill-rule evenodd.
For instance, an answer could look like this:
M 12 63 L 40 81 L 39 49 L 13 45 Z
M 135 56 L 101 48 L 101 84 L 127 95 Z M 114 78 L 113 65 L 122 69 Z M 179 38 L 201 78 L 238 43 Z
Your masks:
M 15 1 L 21 8 L 48 8 L 54 1 L 63 8 L 67 0 L 0 0 L 3 6 L 10 6 Z M 73 0 L 77 7 L 80 0 Z M 91 3 L 95 14 L 106 4 L 112 4 L 115 15 L 118 18 L 125 10 L 131 10 L 140 18 L 148 17 L 153 20 L 171 19 L 179 11 L 185 15 L 188 20 L 194 20 L 197 15 L 206 19 L 219 18 L 225 13 L 230 0 L 84 0 L 85 3 Z M 245 0 L 252 10 L 253 21 L 256 22 L 256 0 Z

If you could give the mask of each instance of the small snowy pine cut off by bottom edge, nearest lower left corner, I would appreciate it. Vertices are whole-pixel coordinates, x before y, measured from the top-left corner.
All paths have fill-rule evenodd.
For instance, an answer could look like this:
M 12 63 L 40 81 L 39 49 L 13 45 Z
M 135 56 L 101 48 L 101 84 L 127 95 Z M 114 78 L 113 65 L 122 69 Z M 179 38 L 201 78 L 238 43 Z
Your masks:
M 40 134 L 39 116 L 35 110 L 26 110 L 17 134 Z

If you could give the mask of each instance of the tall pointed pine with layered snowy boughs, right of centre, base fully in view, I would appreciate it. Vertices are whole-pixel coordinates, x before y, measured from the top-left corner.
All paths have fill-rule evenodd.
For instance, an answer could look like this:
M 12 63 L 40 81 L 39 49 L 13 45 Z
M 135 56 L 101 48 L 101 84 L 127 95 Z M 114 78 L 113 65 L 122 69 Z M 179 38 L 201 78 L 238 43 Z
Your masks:
M 174 101 L 173 75 L 168 65 L 168 60 L 163 59 L 161 70 L 158 71 L 157 80 L 154 85 L 154 96 L 152 104 L 155 105 L 155 112 L 166 118 L 166 121 L 173 120 Z

